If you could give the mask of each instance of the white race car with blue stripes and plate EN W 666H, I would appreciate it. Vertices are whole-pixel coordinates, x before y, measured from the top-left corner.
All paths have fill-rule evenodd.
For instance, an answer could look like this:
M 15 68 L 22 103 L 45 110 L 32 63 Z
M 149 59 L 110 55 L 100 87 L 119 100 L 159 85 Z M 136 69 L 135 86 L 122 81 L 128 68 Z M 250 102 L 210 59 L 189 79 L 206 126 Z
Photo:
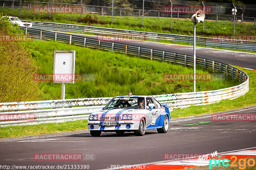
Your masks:
M 92 113 L 88 129 L 94 137 L 101 132 L 135 132 L 143 136 L 146 130 L 157 129 L 166 133 L 170 119 L 169 108 L 150 96 L 116 96 L 101 110 Z

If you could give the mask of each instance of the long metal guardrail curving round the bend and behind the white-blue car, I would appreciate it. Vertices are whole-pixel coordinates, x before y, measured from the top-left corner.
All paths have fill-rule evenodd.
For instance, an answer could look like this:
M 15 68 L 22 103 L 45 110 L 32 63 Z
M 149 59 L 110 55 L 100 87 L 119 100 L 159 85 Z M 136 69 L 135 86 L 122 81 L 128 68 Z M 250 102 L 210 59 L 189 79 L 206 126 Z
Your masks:
M 21 27 L 21 29 L 24 30 L 25 28 Z M 28 33 L 40 39 L 55 39 L 80 46 L 144 56 L 151 60 L 169 61 L 172 63 L 184 64 L 185 66 L 193 65 L 193 56 L 182 53 L 173 53 L 115 42 L 100 42 L 96 39 L 85 38 L 79 35 L 71 36 L 66 33 L 42 31 L 32 28 L 28 28 Z M 235 99 L 244 95 L 249 90 L 249 77 L 240 69 L 228 64 L 200 57 L 197 57 L 196 61 L 196 64 L 203 66 L 204 69 L 212 69 L 213 72 L 218 71 L 220 73 L 225 73 L 226 76 L 231 76 L 231 79 L 236 78 L 239 81 L 243 81 L 243 83 L 226 89 L 153 95 L 153 97 L 155 97 L 161 104 L 168 104 L 170 109 L 176 109 L 189 107 L 190 105 L 211 104 L 223 99 Z M 0 103 L 0 126 L 50 122 L 56 123 L 87 119 L 88 114 L 102 109 L 110 99 L 111 97 Z

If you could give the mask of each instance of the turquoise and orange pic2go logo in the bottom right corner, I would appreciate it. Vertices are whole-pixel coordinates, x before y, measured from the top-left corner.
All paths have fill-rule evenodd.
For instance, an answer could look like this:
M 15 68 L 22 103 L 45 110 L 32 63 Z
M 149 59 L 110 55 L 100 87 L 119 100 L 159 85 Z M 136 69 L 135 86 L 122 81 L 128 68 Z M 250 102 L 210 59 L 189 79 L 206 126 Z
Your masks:
M 219 156 L 220 158 L 220 156 Z M 232 167 L 237 167 L 236 161 L 237 161 L 237 157 L 236 156 L 231 156 L 230 159 L 234 159 L 233 162 L 230 164 L 230 166 Z M 251 162 L 252 161 L 252 162 Z M 214 162 L 214 164 L 212 165 L 212 162 Z M 222 166 L 229 166 L 229 164 L 225 164 L 225 162 L 229 162 L 229 159 L 223 159 L 222 160 Z M 243 162 L 243 163 L 242 163 Z M 212 169 L 212 167 L 217 165 L 217 160 L 216 159 L 209 159 L 209 169 Z M 238 159 L 238 165 L 239 165 L 239 169 L 245 169 L 246 167 L 246 159 Z M 247 160 L 247 165 L 248 166 L 254 166 L 255 165 L 255 160 L 254 159 L 248 159 Z M 218 159 L 218 166 L 221 166 L 220 163 L 220 159 Z

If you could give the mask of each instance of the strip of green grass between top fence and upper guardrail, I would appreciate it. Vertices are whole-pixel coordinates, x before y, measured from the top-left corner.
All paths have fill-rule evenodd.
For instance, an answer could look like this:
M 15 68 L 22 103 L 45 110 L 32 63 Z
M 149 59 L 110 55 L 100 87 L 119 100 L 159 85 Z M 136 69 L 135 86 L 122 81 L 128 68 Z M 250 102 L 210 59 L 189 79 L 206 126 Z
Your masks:
M 11 8 L 0 7 L 0 12 L 4 15 L 19 16 L 19 9 L 12 10 Z M 88 14 L 83 14 L 84 18 Z M 189 19 L 172 18 L 172 29 L 170 18 L 159 18 L 158 17 L 144 17 L 144 26 L 142 27 L 142 17 L 130 17 L 130 16 L 114 16 L 113 24 L 111 24 L 111 16 L 101 16 L 99 14 L 93 14 L 92 16 L 98 18 L 97 24 L 92 26 L 100 26 L 107 28 L 117 28 L 126 30 L 146 31 L 146 32 L 159 32 L 168 34 L 180 34 L 180 35 L 193 35 L 193 23 Z M 23 20 L 33 21 L 44 21 L 44 22 L 59 22 L 66 24 L 79 24 L 88 25 L 81 23 L 80 14 L 52 14 L 49 19 L 49 14 L 34 14 L 33 10 L 21 10 L 21 17 Z M 204 24 L 199 23 L 196 25 L 196 35 L 211 37 L 212 35 L 233 35 L 233 22 L 229 21 L 212 21 L 206 20 Z M 244 22 L 237 23 L 236 35 L 255 35 L 256 27 L 254 23 Z

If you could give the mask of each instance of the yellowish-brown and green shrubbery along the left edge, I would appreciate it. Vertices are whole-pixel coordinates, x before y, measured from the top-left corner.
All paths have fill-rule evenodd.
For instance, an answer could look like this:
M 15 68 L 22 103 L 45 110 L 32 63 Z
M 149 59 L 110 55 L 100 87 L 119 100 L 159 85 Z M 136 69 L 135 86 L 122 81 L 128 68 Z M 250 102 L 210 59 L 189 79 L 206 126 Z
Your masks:
M 18 26 L 0 19 L 0 36 L 17 33 Z M 0 102 L 40 99 L 38 82 L 33 81 L 36 70 L 35 62 L 22 43 L 0 42 Z

